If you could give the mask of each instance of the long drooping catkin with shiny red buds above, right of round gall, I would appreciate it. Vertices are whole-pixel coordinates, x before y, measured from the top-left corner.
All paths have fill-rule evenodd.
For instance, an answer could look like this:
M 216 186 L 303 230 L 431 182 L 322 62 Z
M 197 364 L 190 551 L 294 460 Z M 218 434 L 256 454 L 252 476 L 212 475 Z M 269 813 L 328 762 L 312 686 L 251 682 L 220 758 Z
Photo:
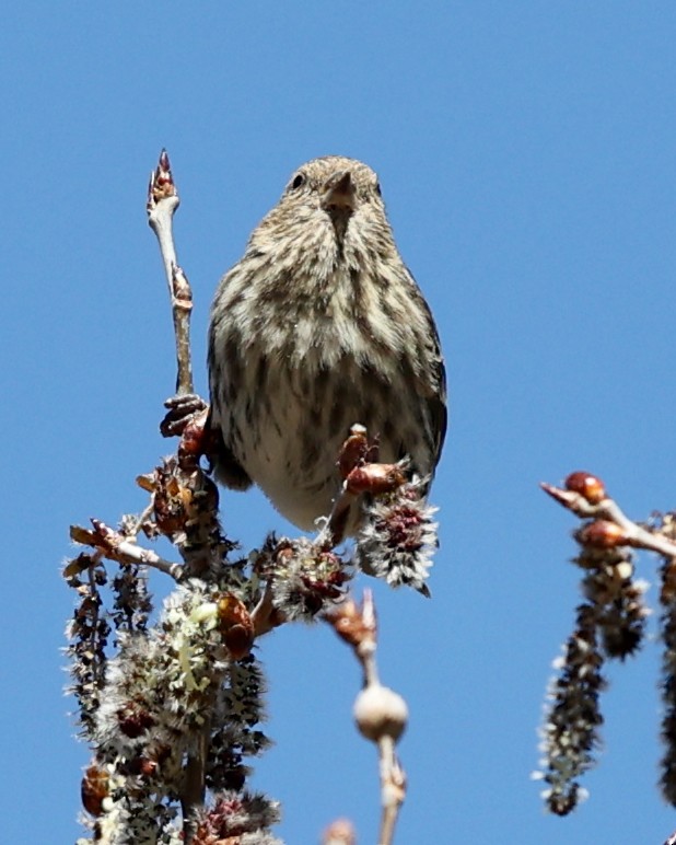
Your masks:
M 548 785 L 543 792 L 548 809 L 566 815 L 585 797 L 579 778 L 595 764 L 603 724 L 599 696 L 606 687 L 604 662 L 636 653 L 650 611 L 643 601 L 648 584 L 633 579 L 631 546 L 643 541 L 641 529 L 621 514 L 603 482 L 576 472 L 566 479 L 564 489 L 544 486 L 584 518 L 574 532 L 580 544 L 574 563 L 584 572 L 585 602 L 578 607 L 575 629 L 555 663 L 559 674 L 550 683 L 540 729 L 543 772 L 535 775 Z

